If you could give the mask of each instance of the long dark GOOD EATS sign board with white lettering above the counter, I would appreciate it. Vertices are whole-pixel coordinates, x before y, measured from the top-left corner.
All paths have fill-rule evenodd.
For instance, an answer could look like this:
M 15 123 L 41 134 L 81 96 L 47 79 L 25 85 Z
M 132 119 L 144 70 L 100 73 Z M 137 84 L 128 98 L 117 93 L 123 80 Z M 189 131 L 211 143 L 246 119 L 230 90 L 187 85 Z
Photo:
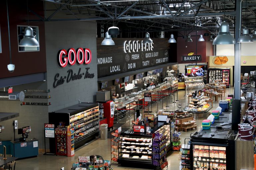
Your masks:
M 97 39 L 98 78 L 149 68 L 169 62 L 170 44 L 164 39 L 142 43 L 143 39 L 114 39 L 115 45 L 101 45 Z M 160 72 L 156 70 L 155 72 Z

